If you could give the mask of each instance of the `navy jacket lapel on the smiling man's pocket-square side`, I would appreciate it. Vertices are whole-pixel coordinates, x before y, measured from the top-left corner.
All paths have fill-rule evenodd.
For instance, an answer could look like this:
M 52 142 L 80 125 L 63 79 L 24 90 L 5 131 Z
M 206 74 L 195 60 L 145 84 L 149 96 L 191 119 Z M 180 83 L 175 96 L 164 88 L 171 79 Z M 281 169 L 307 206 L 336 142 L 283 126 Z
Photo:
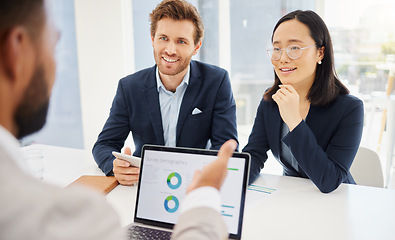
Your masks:
M 202 85 L 200 72 L 196 66 L 196 63 L 194 61 L 191 61 L 190 67 L 191 75 L 189 78 L 189 84 L 182 99 L 180 113 L 178 115 L 176 145 L 178 144 L 178 139 L 181 133 L 181 129 L 184 126 L 185 119 L 189 114 L 192 114 L 192 108 L 194 107 L 193 104 L 195 102 L 195 98 L 200 91 L 200 86 Z

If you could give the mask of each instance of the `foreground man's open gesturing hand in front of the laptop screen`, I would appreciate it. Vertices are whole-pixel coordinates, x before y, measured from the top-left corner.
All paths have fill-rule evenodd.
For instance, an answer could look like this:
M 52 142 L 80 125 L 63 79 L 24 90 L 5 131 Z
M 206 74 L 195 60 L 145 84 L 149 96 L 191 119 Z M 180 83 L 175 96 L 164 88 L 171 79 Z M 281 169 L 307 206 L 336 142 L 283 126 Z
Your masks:
M 228 172 L 228 160 L 237 148 L 237 142 L 233 139 L 225 142 L 218 152 L 218 159 L 205 166 L 202 170 L 196 170 L 192 183 L 187 188 L 187 193 L 204 186 L 215 187 L 220 190 Z

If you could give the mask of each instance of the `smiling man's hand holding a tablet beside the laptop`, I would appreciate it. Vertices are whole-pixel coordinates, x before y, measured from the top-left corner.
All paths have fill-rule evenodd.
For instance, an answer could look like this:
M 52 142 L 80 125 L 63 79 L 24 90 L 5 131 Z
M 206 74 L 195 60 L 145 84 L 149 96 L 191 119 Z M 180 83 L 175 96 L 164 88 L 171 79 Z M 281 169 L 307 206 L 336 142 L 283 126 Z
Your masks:
M 132 155 L 129 147 L 125 148 L 124 153 Z M 119 158 L 114 159 L 112 171 L 115 178 L 122 185 L 133 185 L 139 181 L 140 168 L 132 167 L 128 161 Z

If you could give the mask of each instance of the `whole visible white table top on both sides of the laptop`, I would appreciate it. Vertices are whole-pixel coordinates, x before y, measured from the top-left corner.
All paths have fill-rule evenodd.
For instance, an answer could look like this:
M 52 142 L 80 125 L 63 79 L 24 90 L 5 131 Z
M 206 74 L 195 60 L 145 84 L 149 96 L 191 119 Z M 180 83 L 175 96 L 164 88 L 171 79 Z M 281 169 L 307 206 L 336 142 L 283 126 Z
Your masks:
M 66 186 L 84 174 L 103 175 L 88 151 L 29 148 L 43 149 L 45 182 Z M 323 194 L 308 179 L 262 174 L 254 184 L 276 191 L 246 206 L 242 239 L 395 239 L 395 190 L 342 184 Z M 125 226 L 136 190 L 118 186 L 106 196 Z

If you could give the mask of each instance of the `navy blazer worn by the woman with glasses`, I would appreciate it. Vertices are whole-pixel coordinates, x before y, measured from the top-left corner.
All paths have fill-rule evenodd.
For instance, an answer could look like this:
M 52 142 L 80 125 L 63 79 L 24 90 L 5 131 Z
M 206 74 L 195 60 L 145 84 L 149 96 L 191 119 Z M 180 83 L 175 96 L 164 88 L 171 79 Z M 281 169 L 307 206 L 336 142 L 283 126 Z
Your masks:
M 251 154 L 250 183 L 259 176 L 270 149 L 284 175 L 310 178 L 321 192 L 331 192 L 341 183 L 355 184 L 349 169 L 361 141 L 363 119 L 362 101 L 340 95 L 328 106 L 310 106 L 306 120 L 280 139 L 283 121 L 278 106 L 262 99 L 243 149 Z M 281 160 L 280 141 L 290 148 L 299 172 Z

